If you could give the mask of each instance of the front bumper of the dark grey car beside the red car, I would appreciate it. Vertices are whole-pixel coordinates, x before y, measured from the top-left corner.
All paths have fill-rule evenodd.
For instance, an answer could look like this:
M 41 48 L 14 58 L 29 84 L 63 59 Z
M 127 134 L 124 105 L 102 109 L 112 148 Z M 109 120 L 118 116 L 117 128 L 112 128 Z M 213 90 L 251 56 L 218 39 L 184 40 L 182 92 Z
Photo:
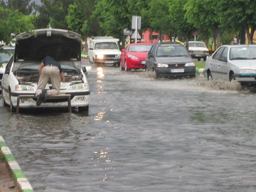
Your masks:
M 191 76 L 195 77 L 195 67 L 185 67 L 184 72 L 181 73 L 172 73 L 171 70 L 173 68 L 164 68 L 159 67 L 155 69 L 155 72 L 158 76 L 173 76 L 173 77 L 179 77 L 179 76 Z

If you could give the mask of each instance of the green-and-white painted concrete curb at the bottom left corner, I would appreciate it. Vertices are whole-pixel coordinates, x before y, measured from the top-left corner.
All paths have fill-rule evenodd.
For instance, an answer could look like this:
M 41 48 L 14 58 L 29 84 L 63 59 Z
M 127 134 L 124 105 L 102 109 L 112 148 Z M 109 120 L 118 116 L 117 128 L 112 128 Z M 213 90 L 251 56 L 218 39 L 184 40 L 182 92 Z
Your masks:
M 15 185 L 17 187 L 17 192 L 34 192 L 29 180 L 25 177 L 20 166 L 16 162 L 11 150 L 6 145 L 3 137 L 0 135 L 0 151 L 3 152 L 4 158 L 6 160 L 9 170 L 12 172 L 12 177 L 14 179 Z

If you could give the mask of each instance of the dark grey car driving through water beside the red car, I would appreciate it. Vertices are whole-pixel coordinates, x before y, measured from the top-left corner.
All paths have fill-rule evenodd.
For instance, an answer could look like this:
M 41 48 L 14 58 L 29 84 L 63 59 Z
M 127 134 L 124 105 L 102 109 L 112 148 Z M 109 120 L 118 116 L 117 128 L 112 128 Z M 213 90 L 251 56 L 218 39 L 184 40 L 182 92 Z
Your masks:
M 158 42 L 148 52 L 145 70 L 153 70 L 156 77 L 195 77 L 195 62 L 181 44 Z

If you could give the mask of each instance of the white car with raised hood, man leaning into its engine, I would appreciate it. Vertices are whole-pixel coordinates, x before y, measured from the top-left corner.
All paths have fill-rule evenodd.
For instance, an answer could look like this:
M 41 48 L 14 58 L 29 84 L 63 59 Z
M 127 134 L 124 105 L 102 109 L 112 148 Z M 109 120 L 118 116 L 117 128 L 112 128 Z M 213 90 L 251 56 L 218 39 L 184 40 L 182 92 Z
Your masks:
M 90 88 L 81 68 L 81 35 L 63 29 L 36 29 L 16 36 L 17 44 L 9 60 L 2 80 L 3 106 L 9 105 L 15 112 L 17 96 L 35 95 L 38 68 L 46 55 L 61 64 L 65 81 L 61 82 L 60 94 L 71 95 L 71 107 L 88 111 Z M 86 70 L 90 70 L 90 67 Z M 46 90 L 51 89 L 50 81 Z M 49 99 L 40 106 L 36 98 L 20 99 L 19 108 L 67 108 L 67 100 Z

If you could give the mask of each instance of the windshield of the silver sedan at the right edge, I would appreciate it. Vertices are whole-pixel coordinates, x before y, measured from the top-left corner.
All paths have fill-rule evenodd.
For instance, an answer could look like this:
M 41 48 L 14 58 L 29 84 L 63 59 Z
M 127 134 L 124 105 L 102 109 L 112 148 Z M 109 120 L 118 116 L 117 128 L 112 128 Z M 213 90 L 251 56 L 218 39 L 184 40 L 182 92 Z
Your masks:
M 230 48 L 230 60 L 256 59 L 256 47 Z

